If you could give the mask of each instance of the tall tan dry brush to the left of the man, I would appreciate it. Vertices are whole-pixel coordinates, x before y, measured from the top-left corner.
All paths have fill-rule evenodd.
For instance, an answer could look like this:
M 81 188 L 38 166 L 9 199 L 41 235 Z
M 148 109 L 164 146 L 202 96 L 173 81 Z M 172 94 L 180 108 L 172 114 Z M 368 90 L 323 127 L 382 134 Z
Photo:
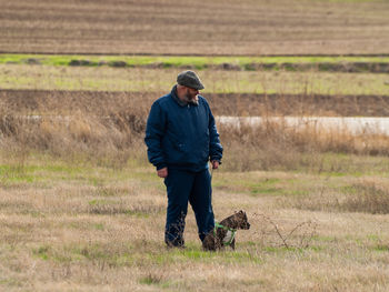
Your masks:
M 31 102 L 3 102 L 0 111 L 2 149 L 47 152 L 54 157 L 79 160 L 81 157 L 99 164 L 122 167 L 130 157 L 143 152 L 147 108 L 128 103 L 129 97 L 117 94 L 93 100 L 90 93 L 52 93 L 33 97 Z M 30 100 L 31 101 L 31 100 Z M 9 107 L 8 107 L 9 105 Z M 34 114 L 31 114 L 34 112 Z M 38 114 L 36 114 L 38 112 Z

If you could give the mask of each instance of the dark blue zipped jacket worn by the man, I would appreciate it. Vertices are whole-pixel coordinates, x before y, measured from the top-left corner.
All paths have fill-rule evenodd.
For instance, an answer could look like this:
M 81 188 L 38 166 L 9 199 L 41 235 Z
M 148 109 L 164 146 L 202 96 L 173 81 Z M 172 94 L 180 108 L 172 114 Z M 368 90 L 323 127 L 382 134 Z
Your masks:
M 186 104 L 176 88 L 151 107 L 144 138 L 148 158 L 157 170 L 201 171 L 209 160 L 221 160 L 219 133 L 207 100 L 198 95 L 198 104 Z

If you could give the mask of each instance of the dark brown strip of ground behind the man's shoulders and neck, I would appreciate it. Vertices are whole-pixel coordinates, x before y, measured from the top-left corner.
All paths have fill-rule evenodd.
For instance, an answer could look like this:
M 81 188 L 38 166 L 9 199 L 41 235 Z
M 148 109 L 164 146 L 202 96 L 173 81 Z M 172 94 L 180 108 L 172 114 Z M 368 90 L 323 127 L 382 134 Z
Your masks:
M 13 90 L 0 92 L 4 107 L 30 114 L 43 114 L 39 104 L 63 104 L 87 109 L 96 114 L 122 104 L 136 107 L 142 102 L 148 109 L 163 92 L 109 92 L 69 90 Z M 255 94 L 255 93 L 207 93 L 216 115 L 320 115 L 320 117 L 389 117 L 389 95 L 326 95 L 326 94 Z M 107 103 L 104 103 L 107 102 Z M 32 104 L 36 104 L 33 107 Z M 52 105 L 49 112 L 54 112 Z M 69 109 L 69 112 L 72 110 Z

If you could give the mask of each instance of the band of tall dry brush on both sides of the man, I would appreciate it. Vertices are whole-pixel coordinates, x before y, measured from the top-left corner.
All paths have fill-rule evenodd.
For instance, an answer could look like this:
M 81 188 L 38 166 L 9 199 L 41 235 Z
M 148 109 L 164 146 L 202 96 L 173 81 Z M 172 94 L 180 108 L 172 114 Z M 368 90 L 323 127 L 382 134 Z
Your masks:
M 104 92 L 3 93 L 0 145 L 54 157 L 87 158 L 100 165 L 121 168 L 129 159 L 146 161 L 146 120 L 149 95 Z M 270 102 L 270 101 L 269 101 Z M 323 170 L 321 153 L 389 154 L 389 138 L 353 135 L 347 130 L 291 127 L 271 117 L 257 125 L 218 124 L 228 170 Z

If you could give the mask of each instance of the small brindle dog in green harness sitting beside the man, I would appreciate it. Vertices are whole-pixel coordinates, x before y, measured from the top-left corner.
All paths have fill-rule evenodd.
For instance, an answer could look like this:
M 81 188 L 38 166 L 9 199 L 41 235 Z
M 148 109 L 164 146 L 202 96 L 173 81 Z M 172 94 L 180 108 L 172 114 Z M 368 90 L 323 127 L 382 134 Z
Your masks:
M 242 210 L 216 223 L 215 230 L 209 232 L 202 241 L 202 249 L 216 251 L 230 245 L 235 250 L 235 233 L 238 229 L 250 229 L 247 214 Z

